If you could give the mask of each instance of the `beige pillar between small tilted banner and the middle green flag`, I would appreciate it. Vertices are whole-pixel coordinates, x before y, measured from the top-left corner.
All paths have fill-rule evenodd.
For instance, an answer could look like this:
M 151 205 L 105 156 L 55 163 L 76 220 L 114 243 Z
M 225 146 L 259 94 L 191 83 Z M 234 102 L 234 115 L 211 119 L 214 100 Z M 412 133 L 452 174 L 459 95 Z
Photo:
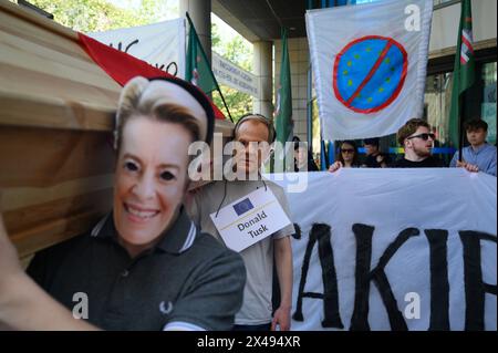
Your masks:
M 255 74 L 259 80 L 260 97 L 253 97 L 253 113 L 262 114 L 267 117 L 273 116 L 272 92 L 273 92 L 273 62 L 272 48 L 273 43 L 268 41 L 253 42 Z

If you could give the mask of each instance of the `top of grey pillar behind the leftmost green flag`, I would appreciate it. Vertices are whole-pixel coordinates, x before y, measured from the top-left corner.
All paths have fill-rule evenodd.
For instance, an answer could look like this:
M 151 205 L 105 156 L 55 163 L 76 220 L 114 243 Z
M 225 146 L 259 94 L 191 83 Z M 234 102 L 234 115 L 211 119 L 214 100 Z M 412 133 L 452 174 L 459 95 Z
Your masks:
M 180 17 L 188 12 L 199 37 L 200 44 L 211 62 L 211 1 L 179 0 Z M 188 27 L 187 27 L 188 30 Z M 188 33 L 188 32 L 187 32 Z

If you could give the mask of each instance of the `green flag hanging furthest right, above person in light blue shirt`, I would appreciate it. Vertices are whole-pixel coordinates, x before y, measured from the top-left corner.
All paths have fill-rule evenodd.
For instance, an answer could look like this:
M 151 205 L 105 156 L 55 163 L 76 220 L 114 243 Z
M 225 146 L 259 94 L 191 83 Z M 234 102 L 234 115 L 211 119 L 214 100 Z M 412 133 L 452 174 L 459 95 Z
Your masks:
M 458 42 L 455 53 L 455 66 L 453 72 L 452 110 L 449 114 L 449 138 L 461 145 L 459 141 L 463 113 L 461 94 L 468 90 L 475 81 L 475 58 L 473 42 L 473 14 L 470 0 L 461 1 L 460 25 L 458 29 Z M 463 134 L 463 132 L 460 132 Z

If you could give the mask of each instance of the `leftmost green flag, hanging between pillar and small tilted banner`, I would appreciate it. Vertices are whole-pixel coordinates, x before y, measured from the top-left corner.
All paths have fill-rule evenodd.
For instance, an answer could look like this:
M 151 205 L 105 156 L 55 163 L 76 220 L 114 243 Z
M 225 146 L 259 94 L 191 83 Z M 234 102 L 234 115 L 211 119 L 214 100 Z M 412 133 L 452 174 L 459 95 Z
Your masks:
M 187 19 L 190 23 L 190 31 L 188 33 L 185 80 L 191 82 L 205 93 L 210 93 L 211 91 L 217 90 L 218 84 L 212 74 L 206 53 L 200 45 L 196 29 L 188 15 Z

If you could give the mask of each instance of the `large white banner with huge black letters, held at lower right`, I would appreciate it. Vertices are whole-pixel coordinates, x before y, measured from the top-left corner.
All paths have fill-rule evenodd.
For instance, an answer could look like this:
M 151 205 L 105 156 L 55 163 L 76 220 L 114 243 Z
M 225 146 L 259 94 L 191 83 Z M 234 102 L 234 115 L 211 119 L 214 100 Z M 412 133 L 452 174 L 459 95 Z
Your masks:
M 287 195 L 293 330 L 497 330 L 496 177 L 341 169 L 308 183 Z

